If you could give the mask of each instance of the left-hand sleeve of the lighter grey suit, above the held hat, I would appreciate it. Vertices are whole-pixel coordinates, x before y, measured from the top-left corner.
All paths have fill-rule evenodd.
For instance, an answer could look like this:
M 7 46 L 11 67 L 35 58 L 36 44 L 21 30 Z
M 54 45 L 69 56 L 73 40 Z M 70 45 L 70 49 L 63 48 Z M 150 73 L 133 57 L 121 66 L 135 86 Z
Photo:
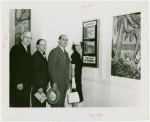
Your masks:
M 53 85 L 54 83 L 57 83 L 56 65 L 57 65 L 57 51 L 52 50 L 48 57 L 48 72 L 50 76 L 51 85 Z

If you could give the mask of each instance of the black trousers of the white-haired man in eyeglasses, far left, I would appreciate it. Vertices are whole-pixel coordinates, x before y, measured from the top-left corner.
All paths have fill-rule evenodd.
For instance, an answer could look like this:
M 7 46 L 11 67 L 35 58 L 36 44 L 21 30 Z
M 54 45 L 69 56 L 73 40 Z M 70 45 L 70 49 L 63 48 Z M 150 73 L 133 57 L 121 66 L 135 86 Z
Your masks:
M 11 96 L 10 107 L 30 107 L 30 90 L 15 90 Z

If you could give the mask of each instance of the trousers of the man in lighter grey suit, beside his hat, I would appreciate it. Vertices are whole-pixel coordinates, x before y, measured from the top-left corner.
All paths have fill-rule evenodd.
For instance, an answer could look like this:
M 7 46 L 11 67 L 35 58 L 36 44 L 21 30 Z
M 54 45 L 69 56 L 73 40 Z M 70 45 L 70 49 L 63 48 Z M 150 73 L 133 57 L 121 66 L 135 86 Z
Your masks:
M 68 90 L 68 86 L 57 86 L 60 92 L 60 99 L 56 104 L 51 105 L 51 107 L 65 107 L 65 98 Z

